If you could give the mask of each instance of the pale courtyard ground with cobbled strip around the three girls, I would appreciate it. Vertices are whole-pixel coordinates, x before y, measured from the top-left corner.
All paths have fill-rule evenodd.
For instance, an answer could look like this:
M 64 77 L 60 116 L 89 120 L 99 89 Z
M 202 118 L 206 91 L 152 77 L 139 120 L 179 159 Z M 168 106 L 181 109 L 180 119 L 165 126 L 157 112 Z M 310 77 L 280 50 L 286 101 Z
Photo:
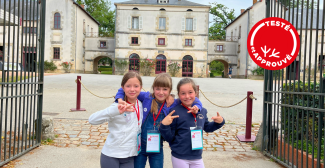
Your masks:
M 56 138 L 50 145 L 42 145 L 9 163 L 7 167 L 99 167 L 100 151 L 109 129 L 107 123 L 90 125 L 88 117 L 108 107 L 114 99 L 97 98 L 82 88 L 81 107 L 84 112 L 70 112 L 76 106 L 77 75 L 93 93 L 111 97 L 120 88 L 122 76 L 100 74 L 60 74 L 45 76 L 43 116 L 53 117 Z M 181 78 L 173 78 L 173 94 Z M 150 90 L 154 77 L 142 77 L 143 88 Z M 262 121 L 263 81 L 227 78 L 194 78 L 200 89 L 214 103 L 232 105 L 242 100 L 247 91 L 253 91 L 257 100 L 253 103 L 252 135 L 256 135 Z M 246 101 L 231 107 L 218 108 L 210 104 L 202 94 L 200 100 L 208 110 L 208 117 L 219 112 L 226 124 L 213 133 L 204 133 L 203 160 L 212 167 L 280 167 L 260 152 L 252 150 L 250 143 L 241 143 L 236 135 L 245 133 Z M 164 143 L 164 165 L 172 167 L 170 148 Z M 35 159 L 37 158 L 37 159 Z M 147 167 L 149 167 L 147 165 Z

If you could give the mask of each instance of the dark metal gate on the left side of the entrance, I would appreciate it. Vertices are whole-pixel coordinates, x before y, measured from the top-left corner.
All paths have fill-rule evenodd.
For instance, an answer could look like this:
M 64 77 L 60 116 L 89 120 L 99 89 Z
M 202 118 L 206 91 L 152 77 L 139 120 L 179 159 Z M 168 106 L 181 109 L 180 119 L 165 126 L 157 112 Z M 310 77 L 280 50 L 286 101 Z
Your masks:
M 41 143 L 45 2 L 0 2 L 0 166 Z

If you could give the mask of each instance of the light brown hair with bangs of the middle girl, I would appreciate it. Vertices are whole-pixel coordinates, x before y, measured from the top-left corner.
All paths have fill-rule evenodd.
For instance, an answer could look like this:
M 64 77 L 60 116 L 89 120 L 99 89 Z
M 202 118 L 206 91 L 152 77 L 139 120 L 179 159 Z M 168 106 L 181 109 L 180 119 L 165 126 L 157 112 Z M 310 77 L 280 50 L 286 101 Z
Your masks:
M 169 74 L 167 73 L 160 73 L 156 76 L 155 80 L 152 84 L 152 90 L 154 91 L 154 87 L 167 87 L 170 89 L 169 93 L 173 89 L 173 81 Z M 152 93 L 152 97 L 155 98 L 155 94 Z M 152 113 L 157 114 L 158 113 L 158 104 L 155 100 L 152 100 L 151 103 L 151 110 Z

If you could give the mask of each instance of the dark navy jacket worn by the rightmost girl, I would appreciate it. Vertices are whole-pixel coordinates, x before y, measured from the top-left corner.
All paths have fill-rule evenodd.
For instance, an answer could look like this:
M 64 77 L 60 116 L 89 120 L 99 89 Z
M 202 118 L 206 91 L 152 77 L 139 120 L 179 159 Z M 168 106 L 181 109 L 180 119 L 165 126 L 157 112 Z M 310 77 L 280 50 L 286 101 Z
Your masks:
M 179 115 L 179 118 L 175 118 L 171 125 L 161 124 L 159 128 L 162 137 L 169 142 L 172 156 L 185 160 L 201 159 L 202 150 L 192 150 L 190 127 L 195 127 L 192 113 L 187 113 L 188 110 L 182 105 L 177 105 L 172 110 L 175 110 L 173 116 Z M 196 115 L 197 126 L 201 126 L 205 132 L 213 132 L 225 124 L 225 120 L 221 124 L 209 122 L 207 113 L 202 108 Z

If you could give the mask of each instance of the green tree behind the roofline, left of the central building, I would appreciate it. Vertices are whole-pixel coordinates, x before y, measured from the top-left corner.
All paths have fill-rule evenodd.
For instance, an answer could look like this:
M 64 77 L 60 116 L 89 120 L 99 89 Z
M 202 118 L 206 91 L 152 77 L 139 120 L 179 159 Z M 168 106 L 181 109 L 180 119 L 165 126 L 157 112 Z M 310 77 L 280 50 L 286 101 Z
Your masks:
M 111 10 L 111 2 L 108 0 L 77 0 L 78 4 L 84 4 L 85 10 L 100 24 L 99 36 L 113 37 L 115 32 L 115 11 Z

